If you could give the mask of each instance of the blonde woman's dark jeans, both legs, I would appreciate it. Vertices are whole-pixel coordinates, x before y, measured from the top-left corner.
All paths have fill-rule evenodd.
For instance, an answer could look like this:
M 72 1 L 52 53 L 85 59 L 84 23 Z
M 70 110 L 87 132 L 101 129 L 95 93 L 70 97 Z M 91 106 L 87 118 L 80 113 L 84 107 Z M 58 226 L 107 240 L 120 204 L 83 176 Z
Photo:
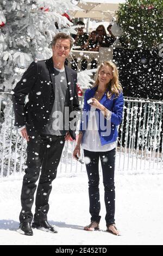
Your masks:
M 86 170 L 89 178 L 89 199 L 91 221 L 99 222 L 101 216 L 101 204 L 99 201 L 99 157 L 102 164 L 104 199 L 106 208 L 106 226 L 115 222 L 115 185 L 114 185 L 114 169 L 115 169 L 115 149 L 106 152 L 92 152 L 84 149 L 84 156 L 88 157 Z

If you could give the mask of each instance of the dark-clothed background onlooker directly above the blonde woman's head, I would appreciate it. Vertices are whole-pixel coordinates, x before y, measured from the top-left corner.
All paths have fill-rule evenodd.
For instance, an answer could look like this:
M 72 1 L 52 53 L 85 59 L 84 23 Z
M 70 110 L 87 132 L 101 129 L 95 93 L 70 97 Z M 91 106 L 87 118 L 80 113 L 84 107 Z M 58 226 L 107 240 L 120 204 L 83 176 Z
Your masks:
M 106 34 L 105 27 L 103 25 L 99 25 L 96 28 L 96 32 L 99 47 L 110 47 L 110 45 L 112 45 L 116 40 L 113 34 L 111 34 L 111 36 Z

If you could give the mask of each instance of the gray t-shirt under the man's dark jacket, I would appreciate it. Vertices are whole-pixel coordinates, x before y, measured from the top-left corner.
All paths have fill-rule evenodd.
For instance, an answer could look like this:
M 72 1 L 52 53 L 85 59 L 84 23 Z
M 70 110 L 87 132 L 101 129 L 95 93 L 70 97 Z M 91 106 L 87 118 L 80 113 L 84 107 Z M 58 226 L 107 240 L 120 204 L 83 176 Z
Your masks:
M 47 135 L 66 135 L 65 130 L 65 105 L 67 80 L 66 72 L 54 68 L 55 85 L 53 84 L 55 99 L 49 121 L 45 126 L 43 133 Z

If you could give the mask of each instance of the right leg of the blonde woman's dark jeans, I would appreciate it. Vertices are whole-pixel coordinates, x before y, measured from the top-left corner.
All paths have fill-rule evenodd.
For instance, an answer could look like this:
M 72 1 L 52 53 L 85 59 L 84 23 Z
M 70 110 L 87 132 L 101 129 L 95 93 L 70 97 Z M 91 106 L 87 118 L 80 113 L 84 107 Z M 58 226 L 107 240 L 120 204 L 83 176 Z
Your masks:
M 114 185 L 114 171 L 115 171 L 115 149 L 101 152 L 101 164 L 103 172 L 104 184 L 104 199 L 106 207 L 106 226 L 115 222 L 115 185 Z

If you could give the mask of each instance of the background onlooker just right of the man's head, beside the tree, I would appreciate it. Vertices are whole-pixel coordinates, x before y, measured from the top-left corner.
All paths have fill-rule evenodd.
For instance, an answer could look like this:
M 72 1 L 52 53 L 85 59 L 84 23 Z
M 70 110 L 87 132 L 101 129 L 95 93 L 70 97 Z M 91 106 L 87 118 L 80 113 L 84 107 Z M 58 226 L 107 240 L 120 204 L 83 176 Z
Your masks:
M 77 50 L 84 51 L 85 50 L 84 45 L 85 45 L 86 41 L 88 40 L 89 35 L 87 35 L 84 32 L 85 24 L 84 24 L 83 21 L 78 21 L 77 25 L 80 26 L 80 27 L 77 28 L 78 32 L 77 32 L 76 35 L 72 35 L 73 39 L 75 40 L 74 41 L 74 46 L 80 46 L 80 48 L 78 48 Z

